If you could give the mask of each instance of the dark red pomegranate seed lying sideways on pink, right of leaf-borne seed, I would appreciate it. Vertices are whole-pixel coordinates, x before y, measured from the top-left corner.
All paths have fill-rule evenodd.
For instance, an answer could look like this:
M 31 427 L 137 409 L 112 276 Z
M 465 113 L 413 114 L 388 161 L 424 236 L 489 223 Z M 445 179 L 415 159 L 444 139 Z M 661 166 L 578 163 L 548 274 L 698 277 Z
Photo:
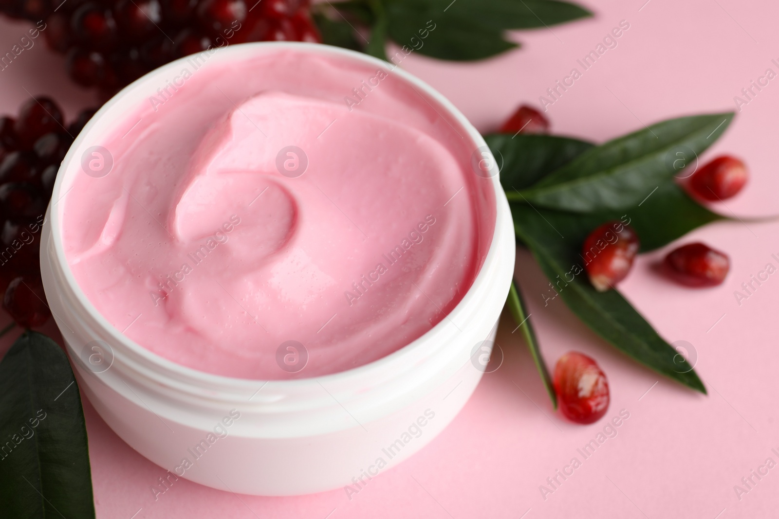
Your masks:
M 730 270 L 727 254 L 700 242 L 674 249 L 663 265 L 672 279 L 686 286 L 717 286 Z

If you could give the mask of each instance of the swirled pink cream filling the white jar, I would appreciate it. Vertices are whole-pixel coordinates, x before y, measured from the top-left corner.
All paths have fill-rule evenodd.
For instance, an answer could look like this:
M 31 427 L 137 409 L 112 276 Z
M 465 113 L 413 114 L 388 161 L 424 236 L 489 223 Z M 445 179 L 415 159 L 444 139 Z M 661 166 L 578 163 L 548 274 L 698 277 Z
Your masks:
M 302 49 L 178 68 L 86 135 L 113 165 L 61 202 L 66 258 L 115 328 L 270 380 L 361 366 L 446 318 L 495 222 L 446 110 L 388 68 Z

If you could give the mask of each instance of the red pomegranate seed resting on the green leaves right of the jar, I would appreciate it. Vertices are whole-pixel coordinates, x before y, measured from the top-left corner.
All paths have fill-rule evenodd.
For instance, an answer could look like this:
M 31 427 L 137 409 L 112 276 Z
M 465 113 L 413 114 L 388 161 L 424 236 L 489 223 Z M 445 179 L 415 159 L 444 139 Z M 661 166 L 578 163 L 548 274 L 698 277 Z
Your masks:
M 633 227 L 613 220 L 604 223 L 584 240 L 582 258 L 592 286 L 605 292 L 625 279 L 633 266 L 639 240 Z

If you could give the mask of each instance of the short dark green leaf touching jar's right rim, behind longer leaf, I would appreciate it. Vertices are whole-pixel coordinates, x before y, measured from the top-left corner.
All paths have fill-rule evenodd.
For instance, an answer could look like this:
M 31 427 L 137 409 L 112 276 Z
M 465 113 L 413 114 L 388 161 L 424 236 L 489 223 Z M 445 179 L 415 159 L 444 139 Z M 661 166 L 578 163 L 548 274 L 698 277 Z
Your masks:
M 552 135 L 492 133 L 484 138 L 501 167 L 500 183 L 506 191 L 535 184 L 594 146 Z

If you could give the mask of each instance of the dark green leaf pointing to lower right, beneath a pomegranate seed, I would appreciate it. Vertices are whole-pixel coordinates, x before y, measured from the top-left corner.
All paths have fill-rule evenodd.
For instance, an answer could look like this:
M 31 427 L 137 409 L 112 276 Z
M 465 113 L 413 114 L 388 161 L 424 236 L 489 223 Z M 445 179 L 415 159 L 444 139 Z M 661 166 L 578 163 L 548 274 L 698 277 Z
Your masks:
M 665 342 L 619 291 L 597 292 L 579 254 L 594 228 L 583 218 L 526 205 L 512 206 L 516 234 L 530 248 L 559 296 L 597 335 L 622 352 L 673 380 L 706 393 L 692 366 Z M 681 359 L 681 361 L 679 360 Z

